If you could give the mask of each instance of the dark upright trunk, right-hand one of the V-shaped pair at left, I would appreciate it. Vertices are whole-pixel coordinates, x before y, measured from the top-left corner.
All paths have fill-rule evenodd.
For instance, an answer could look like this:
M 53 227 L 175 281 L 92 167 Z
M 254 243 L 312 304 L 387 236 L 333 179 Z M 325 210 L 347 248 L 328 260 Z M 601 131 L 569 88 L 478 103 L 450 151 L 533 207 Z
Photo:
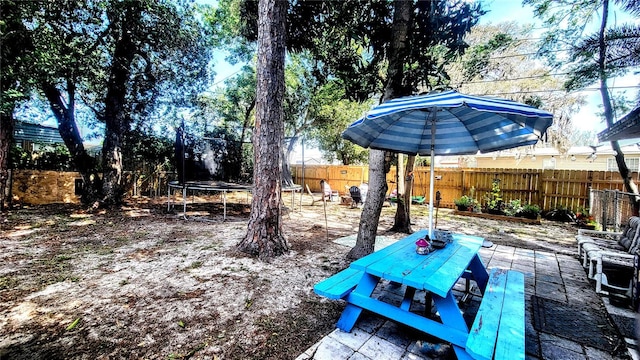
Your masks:
M 122 203 L 122 146 L 129 119 L 125 104 L 127 83 L 131 75 L 131 63 L 136 53 L 133 34 L 140 21 L 140 4 L 132 2 L 122 15 L 122 25 L 117 30 L 118 42 L 113 53 L 111 74 L 105 97 L 105 136 L 102 145 L 102 195 L 107 206 Z

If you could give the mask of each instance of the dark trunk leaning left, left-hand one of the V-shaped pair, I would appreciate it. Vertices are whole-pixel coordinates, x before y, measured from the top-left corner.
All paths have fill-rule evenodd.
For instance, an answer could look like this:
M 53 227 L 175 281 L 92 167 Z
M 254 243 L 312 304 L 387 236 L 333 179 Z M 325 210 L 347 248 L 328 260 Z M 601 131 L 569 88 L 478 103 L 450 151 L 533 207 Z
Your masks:
M 75 85 L 72 81 L 67 81 L 67 104 L 64 103 L 62 94 L 53 84 L 44 83 L 41 87 L 58 122 L 60 137 L 69 150 L 76 169 L 82 176 L 81 201 L 85 205 L 91 204 L 99 198 L 100 177 L 96 172 L 96 161 L 87 154 L 76 124 L 74 113 Z

